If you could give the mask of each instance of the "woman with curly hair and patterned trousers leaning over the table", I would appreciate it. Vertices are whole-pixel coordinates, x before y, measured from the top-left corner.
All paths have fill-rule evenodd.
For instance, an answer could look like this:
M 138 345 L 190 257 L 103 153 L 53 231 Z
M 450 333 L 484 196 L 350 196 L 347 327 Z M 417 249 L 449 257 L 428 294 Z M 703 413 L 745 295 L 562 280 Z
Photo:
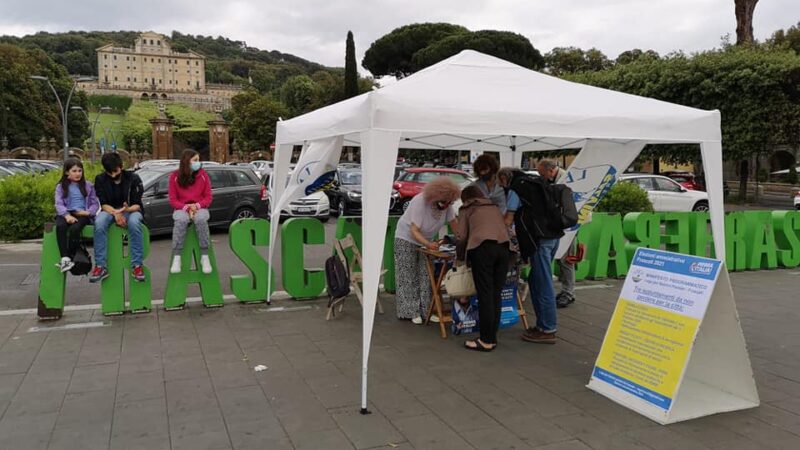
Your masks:
M 394 267 L 398 319 L 411 319 L 420 325 L 422 316 L 428 312 L 431 285 L 425 258 L 418 249 L 423 246 L 437 250 L 439 241 L 434 239 L 439 230 L 447 223 L 452 230 L 458 228 L 452 204 L 460 194 L 461 189 L 452 179 L 436 178 L 425 185 L 420 195 L 411 199 L 408 209 L 397 223 Z

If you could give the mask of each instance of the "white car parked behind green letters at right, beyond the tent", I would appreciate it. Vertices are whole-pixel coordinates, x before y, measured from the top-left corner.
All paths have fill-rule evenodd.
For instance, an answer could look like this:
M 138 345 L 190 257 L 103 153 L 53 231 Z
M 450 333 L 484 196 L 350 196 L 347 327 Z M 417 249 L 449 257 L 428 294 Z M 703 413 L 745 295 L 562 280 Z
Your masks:
M 708 194 L 686 189 L 675 180 L 662 175 L 625 174 L 623 183 L 635 183 L 647 192 L 656 211 L 708 211 Z

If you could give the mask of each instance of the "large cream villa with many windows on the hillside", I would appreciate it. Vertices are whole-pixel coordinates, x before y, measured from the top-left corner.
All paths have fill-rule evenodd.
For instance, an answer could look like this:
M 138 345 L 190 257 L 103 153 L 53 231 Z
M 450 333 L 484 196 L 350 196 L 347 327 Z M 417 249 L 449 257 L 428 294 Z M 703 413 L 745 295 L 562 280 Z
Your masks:
M 206 83 L 205 63 L 205 56 L 176 52 L 166 36 L 145 32 L 133 47 L 98 48 L 97 79 L 81 81 L 79 87 L 89 95 L 158 99 L 207 111 L 230 109 L 241 86 Z

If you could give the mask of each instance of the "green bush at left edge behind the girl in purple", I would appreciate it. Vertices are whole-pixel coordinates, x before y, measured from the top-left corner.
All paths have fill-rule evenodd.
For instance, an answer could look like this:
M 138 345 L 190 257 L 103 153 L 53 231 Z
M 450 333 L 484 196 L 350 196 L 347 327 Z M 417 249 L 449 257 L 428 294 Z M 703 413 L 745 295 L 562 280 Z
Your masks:
M 85 164 L 86 179 L 102 171 Z M 0 181 L 0 240 L 18 241 L 42 236 L 44 224 L 55 218 L 55 188 L 61 170 L 42 175 L 14 175 Z

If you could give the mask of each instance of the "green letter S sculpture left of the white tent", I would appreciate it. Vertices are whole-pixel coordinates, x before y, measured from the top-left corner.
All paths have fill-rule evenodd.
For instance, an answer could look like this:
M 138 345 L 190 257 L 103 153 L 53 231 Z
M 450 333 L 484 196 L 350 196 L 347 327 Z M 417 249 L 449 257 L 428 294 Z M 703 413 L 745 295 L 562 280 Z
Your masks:
M 269 246 L 269 221 L 239 219 L 228 230 L 231 251 L 250 271 L 249 275 L 231 275 L 231 291 L 240 302 L 263 302 L 267 299 L 267 273 L 272 277 L 275 292 L 275 271 L 259 253 L 258 247 Z

